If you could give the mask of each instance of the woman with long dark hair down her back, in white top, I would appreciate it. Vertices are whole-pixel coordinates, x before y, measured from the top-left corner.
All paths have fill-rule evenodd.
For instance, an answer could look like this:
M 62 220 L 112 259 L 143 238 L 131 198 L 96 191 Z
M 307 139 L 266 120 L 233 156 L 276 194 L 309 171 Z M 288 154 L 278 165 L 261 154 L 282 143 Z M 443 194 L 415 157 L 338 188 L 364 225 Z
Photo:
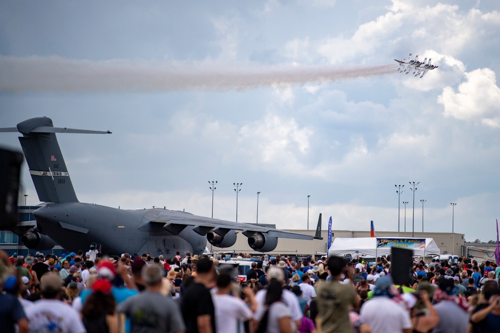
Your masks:
M 272 279 L 266 289 L 264 304 L 255 315 L 258 321 L 256 333 L 295 332 L 290 310 L 283 303 L 282 294 L 282 282 Z

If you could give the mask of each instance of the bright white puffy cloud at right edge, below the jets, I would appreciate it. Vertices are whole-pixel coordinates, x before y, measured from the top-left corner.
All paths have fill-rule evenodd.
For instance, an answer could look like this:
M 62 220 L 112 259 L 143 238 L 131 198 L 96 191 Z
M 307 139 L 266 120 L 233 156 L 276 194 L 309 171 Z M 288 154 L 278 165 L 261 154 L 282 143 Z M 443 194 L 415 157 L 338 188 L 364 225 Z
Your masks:
M 446 86 L 437 98 L 444 107 L 444 115 L 500 127 L 500 88 L 495 73 L 489 68 L 479 68 L 466 72 L 465 78 L 458 91 Z

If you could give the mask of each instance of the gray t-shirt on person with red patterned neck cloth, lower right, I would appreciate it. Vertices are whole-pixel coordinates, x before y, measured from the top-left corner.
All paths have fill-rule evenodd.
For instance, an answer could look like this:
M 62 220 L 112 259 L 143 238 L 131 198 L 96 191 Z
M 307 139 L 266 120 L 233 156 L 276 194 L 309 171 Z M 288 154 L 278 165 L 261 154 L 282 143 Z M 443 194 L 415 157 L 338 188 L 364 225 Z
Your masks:
M 439 315 L 439 323 L 432 333 L 465 333 L 469 317 L 465 310 L 452 301 L 441 301 L 434 305 Z

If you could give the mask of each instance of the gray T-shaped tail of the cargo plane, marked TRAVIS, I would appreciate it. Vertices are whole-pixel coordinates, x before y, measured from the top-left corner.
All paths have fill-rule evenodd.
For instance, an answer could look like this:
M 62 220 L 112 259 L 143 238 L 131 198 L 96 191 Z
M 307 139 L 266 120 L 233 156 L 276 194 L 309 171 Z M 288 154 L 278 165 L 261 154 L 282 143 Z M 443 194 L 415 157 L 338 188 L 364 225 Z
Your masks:
M 52 119 L 38 117 L 17 124 L 19 142 L 38 199 L 43 202 L 78 202 L 55 133 L 110 133 L 53 127 Z M 13 128 L 0 132 L 13 132 Z

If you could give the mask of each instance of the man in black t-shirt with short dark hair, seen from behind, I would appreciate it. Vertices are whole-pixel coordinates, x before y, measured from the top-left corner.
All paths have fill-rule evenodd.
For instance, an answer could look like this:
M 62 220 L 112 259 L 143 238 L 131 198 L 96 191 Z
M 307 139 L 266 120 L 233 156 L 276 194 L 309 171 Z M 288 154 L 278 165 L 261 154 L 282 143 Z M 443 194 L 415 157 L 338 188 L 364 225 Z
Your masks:
M 208 290 L 213 277 L 213 265 L 201 258 L 196 263 L 196 276 L 183 290 L 180 302 L 187 333 L 215 333 L 215 309 Z

